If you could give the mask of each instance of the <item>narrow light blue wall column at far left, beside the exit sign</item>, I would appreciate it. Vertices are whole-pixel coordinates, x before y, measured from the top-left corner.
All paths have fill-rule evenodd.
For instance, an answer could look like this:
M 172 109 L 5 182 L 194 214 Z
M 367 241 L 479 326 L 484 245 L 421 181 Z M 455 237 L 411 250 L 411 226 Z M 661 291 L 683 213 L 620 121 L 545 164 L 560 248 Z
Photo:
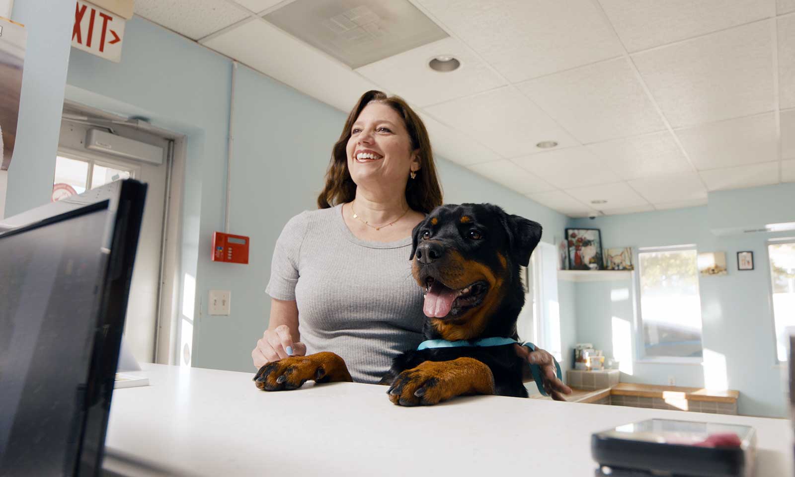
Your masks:
M 5 191 L 6 217 L 47 204 L 52 197 L 74 11 L 73 2 L 14 2 L 11 19 L 25 25 L 28 42 L 17 140 Z

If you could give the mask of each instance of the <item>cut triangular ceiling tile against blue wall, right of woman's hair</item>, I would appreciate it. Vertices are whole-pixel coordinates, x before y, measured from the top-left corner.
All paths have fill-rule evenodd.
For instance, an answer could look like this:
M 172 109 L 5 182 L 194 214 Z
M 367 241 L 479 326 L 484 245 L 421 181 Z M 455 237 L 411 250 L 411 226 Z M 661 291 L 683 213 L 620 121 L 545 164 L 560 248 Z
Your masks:
M 417 114 L 428 130 L 435 157 L 444 157 L 460 165 L 482 164 L 502 159 L 497 153 L 466 134 L 445 126 L 428 114 L 420 112 Z

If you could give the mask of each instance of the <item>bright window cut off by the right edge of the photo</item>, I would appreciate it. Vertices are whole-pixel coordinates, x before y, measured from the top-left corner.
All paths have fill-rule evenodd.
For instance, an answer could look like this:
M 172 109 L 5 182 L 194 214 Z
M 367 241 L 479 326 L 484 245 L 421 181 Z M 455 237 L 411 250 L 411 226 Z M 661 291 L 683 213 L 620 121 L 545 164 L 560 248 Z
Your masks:
M 776 324 L 776 351 L 779 361 L 787 360 L 788 330 L 795 326 L 795 240 L 771 243 L 770 277 L 773 281 L 773 317 Z

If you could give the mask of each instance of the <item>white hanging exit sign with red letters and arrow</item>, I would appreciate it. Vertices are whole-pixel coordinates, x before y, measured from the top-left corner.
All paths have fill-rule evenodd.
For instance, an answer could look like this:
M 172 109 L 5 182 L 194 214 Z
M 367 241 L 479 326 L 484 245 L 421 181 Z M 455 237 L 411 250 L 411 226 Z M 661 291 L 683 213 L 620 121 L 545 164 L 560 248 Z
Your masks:
M 72 46 L 118 63 L 126 19 L 83 0 L 76 0 Z

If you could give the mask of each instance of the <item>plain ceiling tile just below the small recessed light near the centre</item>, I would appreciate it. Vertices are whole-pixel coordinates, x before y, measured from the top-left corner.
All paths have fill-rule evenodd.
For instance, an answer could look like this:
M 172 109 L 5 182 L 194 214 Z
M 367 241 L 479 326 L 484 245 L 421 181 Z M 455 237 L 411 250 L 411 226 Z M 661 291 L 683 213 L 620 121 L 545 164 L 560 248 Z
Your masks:
M 568 189 L 620 180 L 584 146 L 531 154 L 513 161 L 557 188 Z

